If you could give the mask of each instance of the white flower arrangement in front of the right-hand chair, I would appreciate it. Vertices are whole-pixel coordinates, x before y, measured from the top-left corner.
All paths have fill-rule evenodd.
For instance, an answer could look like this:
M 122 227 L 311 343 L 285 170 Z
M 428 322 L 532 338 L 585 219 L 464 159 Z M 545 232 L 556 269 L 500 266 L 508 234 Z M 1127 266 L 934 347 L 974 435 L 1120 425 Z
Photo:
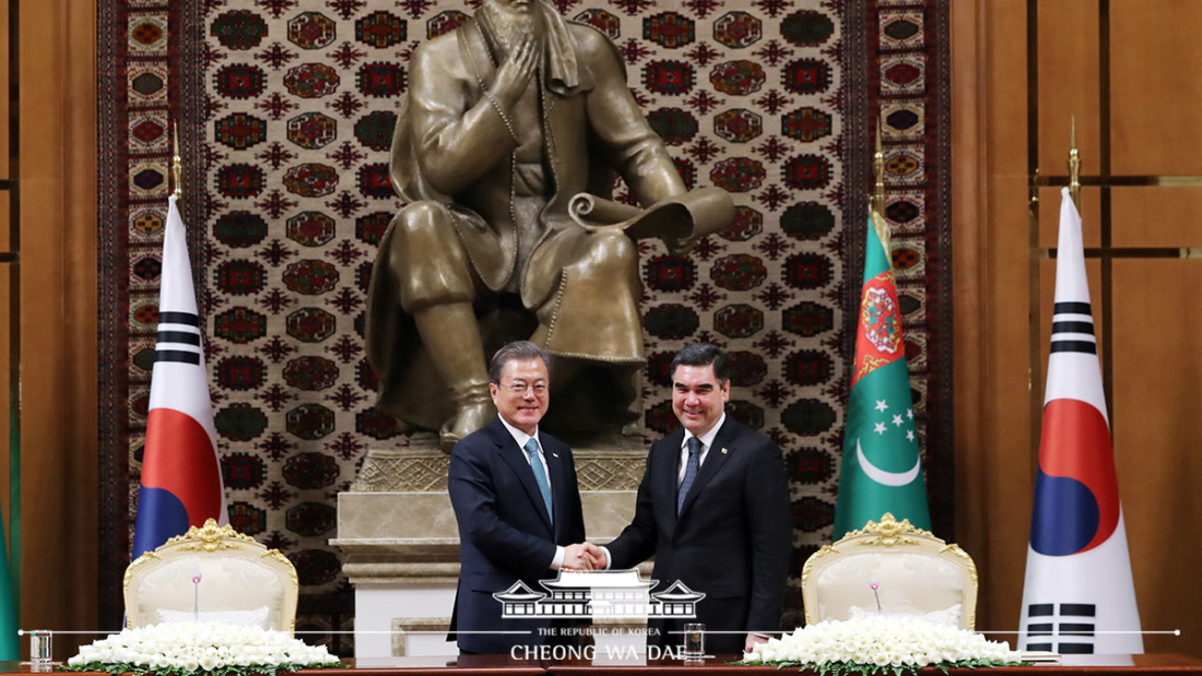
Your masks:
M 1005 642 L 916 617 L 828 620 L 758 644 L 739 664 L 797 666 L 819 674 L 912 674 L 923 666 L 1004 666 L 1019 663 Z

